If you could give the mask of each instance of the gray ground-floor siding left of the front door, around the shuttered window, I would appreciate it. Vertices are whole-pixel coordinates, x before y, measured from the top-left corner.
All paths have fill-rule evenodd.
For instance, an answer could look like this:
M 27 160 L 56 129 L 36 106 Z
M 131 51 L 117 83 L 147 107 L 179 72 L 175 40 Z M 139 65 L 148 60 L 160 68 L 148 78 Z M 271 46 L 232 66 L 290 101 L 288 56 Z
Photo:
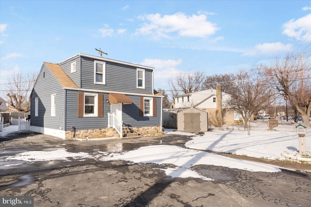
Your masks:
M 108 94 L 103 94 L 103 117 L 78 117 L 78 93 L 80 92 L 82 91 L 66 90 L 66 130 L 71 130 L 71 127 L 75 130 L 107 128 L 107 113 L 110 112 L 110 105 L 106 101 Z

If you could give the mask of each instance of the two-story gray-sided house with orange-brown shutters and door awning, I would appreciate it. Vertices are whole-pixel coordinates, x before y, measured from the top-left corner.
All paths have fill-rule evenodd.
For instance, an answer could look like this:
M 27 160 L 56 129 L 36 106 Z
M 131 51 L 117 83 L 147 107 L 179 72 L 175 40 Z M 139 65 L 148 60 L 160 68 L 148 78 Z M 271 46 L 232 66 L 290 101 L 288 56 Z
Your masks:
M 123 137 L 122 127 L 159 133 L 154 69 L 81 53 L 45 62 L 31 93 L 31 130 L 63 139 Z

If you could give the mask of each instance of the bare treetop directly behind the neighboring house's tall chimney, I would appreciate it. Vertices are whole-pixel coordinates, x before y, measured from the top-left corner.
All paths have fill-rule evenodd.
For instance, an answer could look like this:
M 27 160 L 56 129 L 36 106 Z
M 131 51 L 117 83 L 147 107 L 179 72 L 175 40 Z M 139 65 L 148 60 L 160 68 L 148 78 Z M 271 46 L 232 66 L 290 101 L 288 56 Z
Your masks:
M 234 89 L 235 75 L 229 74 L 215 74 L 212 76 L 207 76 L 204 80 L 202 89 L 216 89 L 217 84 L 221 84 L 222 91 L 225 93 L 232 93 Z

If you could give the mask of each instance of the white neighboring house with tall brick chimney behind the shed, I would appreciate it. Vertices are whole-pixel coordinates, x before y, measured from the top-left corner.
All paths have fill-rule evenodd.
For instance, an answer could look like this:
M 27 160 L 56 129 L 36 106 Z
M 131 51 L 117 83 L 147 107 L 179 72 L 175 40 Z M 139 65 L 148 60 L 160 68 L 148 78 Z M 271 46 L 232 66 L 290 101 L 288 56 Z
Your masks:
M 222 92 L 220 85 L 218 85 L 218 93 L 216 89 L 208 89 L 176 96 L 175 108 L 194 107 L 206 111 L 208 117 L 210 116 L 210 112 L 215 113 L 217 109 L 220 109 L 223 114 L 224 123 L 226 125 L 232 125 L 240 119 L 240 115 L 237 112 L 225 108 L 224 103 L 228 98 L 230 98 L 230 95 Z

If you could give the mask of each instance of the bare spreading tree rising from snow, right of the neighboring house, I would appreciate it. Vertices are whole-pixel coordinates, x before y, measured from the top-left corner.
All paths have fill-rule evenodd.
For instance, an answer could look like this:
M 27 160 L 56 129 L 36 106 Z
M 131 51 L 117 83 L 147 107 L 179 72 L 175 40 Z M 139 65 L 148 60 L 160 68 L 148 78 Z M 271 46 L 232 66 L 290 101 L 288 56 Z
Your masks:
M 266 78 L 266 67 L 259 65 L 250 71 L 240 70 L 236 76 L 234 92 L 230 93 L 231 98 L 226 101 L 228 109 L 237 111 L 244 120 L 244 128 L 250 133 L 250 119 L 260 109 L 264 108 L 273 88 Z

